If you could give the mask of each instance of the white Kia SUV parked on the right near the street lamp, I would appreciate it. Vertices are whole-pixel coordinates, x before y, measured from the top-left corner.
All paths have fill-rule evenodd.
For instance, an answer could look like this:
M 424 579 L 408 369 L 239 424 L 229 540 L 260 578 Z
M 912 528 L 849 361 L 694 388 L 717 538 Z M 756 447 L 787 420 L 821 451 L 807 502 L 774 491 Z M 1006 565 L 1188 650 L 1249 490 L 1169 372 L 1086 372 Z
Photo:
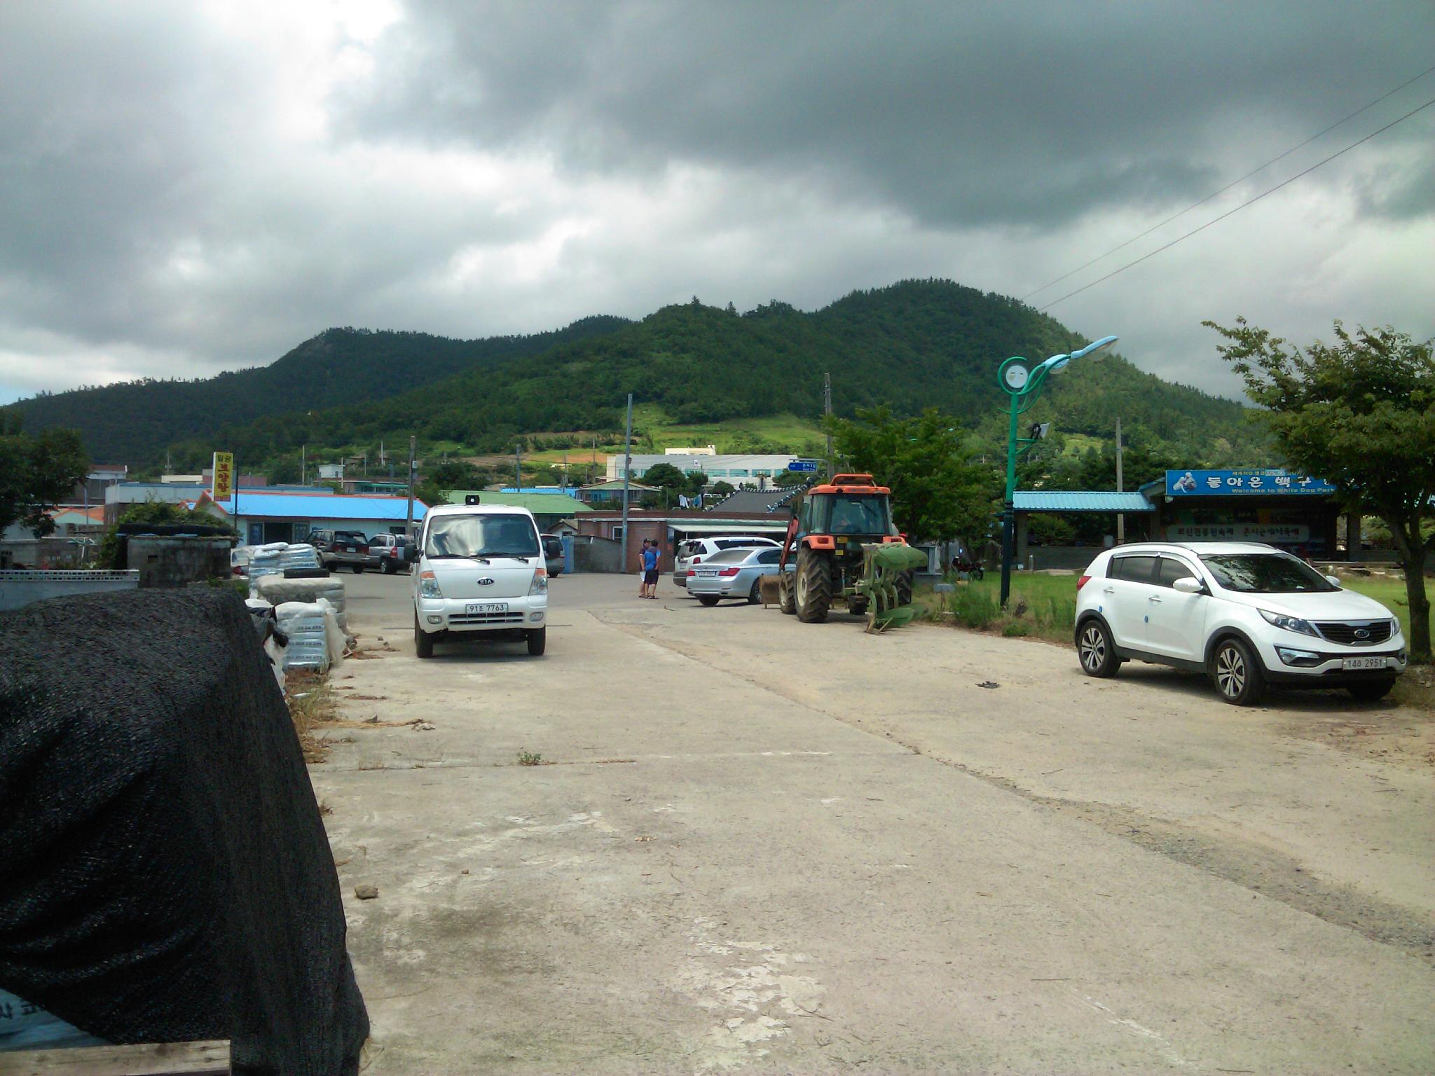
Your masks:
M 1076 584 L 1088 676 L 1137 660 L 1207 673 L 1228 703 L 1267 684 L 1385 697 L 1405 671 L 1401 623 L 1304 561 L 1253 542 L 1122 545 Z

